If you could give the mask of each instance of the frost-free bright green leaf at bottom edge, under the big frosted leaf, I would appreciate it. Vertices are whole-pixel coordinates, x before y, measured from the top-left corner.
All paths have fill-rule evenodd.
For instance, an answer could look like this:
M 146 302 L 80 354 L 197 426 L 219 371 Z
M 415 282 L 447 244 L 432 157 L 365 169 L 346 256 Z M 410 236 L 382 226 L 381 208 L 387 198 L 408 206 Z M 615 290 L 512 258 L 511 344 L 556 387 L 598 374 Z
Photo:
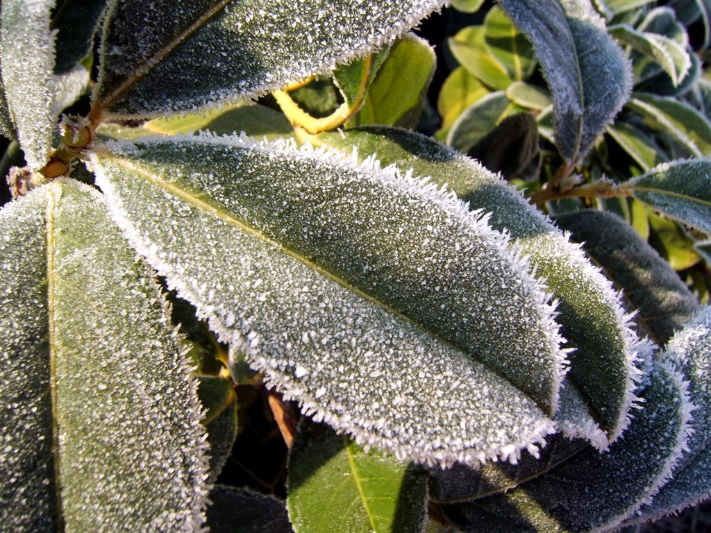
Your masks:
M 304 419 L 289 451 L 287 507 L 296 533 L 422 531 L 427 475 Z

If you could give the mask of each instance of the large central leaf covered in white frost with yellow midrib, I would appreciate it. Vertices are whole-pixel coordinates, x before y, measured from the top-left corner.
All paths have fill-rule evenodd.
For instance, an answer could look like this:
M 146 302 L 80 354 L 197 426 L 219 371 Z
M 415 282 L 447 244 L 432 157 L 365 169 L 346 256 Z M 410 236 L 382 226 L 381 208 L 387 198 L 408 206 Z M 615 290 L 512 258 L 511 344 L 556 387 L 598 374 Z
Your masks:
M 458 200 L 288 143 L 139 143 L 95 156 L 115 219 L 307 413 L 430 464 L 515 461 L 552 429 L 510 383 L 557 403 L 547 296 Z

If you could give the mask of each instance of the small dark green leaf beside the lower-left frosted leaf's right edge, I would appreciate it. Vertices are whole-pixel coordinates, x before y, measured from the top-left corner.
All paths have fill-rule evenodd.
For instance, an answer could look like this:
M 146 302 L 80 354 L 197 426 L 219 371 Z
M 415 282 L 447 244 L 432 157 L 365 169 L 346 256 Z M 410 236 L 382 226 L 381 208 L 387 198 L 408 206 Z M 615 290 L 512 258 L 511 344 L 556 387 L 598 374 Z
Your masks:
M 205 409 L 203 426 L 210 443 L 210 483 L 220 474 L 237 438 L 237 397 L 232 381 L 217 376 L 196 376 L 198 399 Z

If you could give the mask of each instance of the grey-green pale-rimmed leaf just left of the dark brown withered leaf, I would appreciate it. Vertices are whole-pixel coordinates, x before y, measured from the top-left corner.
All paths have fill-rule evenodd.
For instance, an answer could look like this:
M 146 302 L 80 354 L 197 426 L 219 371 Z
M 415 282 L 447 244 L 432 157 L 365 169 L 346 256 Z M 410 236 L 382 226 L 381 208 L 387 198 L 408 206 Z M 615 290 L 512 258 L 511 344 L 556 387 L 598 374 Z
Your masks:
M 489 93 L 461 112 L 447 133 L 447 144 L 462 152 L 469 151 L 509 111 L 510 102 L 503 91 Z

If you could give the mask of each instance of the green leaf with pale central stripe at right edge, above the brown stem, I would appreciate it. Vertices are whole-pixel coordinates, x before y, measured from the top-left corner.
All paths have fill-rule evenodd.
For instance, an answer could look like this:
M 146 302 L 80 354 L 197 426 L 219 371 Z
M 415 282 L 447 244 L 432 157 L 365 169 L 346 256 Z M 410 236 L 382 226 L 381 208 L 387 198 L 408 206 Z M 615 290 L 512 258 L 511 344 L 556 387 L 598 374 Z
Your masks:
M 635 94 L 627 106 L 654 129 L 667 131 L 690 155 L 711 154 L 711 122 L 689 104 L 671 97 Z

